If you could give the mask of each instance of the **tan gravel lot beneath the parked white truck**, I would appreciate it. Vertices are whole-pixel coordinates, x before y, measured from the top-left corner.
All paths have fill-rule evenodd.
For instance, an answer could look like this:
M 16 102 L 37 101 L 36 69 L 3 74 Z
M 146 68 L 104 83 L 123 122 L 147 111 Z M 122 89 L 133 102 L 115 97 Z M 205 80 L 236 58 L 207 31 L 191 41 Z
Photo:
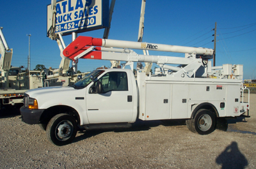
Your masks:
M 136 122 L 77 133 L 62 147 L 19 114 L 2 114 L 0 168 L 256 168 L 256 94 L 250 101 L 251 118 L 228 121 L 228 131 L 198 135 L 184 121 Z

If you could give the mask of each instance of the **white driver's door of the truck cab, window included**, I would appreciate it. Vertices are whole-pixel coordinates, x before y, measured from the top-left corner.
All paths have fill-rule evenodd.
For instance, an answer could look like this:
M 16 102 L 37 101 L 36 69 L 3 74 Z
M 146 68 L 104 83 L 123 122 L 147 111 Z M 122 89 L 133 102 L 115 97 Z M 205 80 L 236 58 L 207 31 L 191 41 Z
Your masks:
M 108 72 L 98 81 L 102 83 L 102 93 L 90 94 L 88 90 L 86 94 L 90 124 L 132 121 L 132 87 L 129 86 L 127 73 Z

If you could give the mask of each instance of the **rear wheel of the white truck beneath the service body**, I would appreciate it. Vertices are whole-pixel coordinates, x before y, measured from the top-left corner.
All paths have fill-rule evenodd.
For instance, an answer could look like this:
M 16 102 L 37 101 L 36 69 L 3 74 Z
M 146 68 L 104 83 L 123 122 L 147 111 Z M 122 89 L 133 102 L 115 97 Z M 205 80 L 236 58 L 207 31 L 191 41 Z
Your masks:
M 216 117 L 206 109 L 200 109 L 196 112 L 195 118 L 186 121 L 188 129 L 200 135 L 208 135 L 215 130 Z

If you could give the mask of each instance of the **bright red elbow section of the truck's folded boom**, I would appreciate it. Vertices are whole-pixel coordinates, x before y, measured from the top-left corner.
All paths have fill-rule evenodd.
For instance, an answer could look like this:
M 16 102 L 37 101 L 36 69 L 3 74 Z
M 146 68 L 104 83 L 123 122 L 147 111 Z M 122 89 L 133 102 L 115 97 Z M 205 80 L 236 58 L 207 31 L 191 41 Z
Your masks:
M 78 36 L 76 40 L 72 41 L 64 50 L 63 55 L 75 61 L 74 57 L 84 52 L 90 46 L 96 46 L 95 50 L 100 50 L 99 47 L 102 46 L 102 39 L 92 38 L 88 36 Z M 88 54 L 80 57 L 83 59 L 101 59 L 101 52 L 88 52 Z

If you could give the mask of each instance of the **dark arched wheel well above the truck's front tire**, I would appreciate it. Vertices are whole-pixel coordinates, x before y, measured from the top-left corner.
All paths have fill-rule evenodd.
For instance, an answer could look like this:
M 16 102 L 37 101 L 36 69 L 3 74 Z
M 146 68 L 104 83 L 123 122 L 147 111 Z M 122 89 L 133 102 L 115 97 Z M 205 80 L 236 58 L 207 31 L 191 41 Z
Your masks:
M 65 105 L 58 105 L 44 110 L 44 113 L 40 117 L 40 123 L 47 124 L 52 117 L 57 114 L 69 114 L 76 119 L 78 125 L 80 124 L 80 117 L 77 111 L 74 108 Z

